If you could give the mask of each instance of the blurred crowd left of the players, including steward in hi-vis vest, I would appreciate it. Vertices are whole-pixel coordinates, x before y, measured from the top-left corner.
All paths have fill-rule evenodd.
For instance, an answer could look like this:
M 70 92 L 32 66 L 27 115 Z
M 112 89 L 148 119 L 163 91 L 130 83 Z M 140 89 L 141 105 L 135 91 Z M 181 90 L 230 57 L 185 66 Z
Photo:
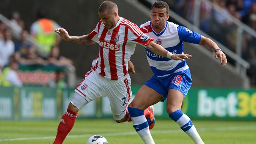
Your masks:
M 54 21 L 45 18 L 44 12 L 38 12 L 36 20 L 26 30 L 25 22 L 20 17 L 19 12 L 13 12 L 13 28 L 20 33 L 20 39 L 12 36 L 12 30 L 3 22 L 0 22 L 0 86 L 22 86 L 21 75 L 17 72 L 19 66 L 43 66 L 60 67 L 56 70 L 54 79 L 48 81 L 48 86 L 66 88 L 65 72 L 63 67 L 73 64 L 72 60 L 60 55 L 60 36 L 54 32 L 60 26 Z M 42 46 L 40 55 L 38 49 L 32 46 L 27 38 L 33 36 Z

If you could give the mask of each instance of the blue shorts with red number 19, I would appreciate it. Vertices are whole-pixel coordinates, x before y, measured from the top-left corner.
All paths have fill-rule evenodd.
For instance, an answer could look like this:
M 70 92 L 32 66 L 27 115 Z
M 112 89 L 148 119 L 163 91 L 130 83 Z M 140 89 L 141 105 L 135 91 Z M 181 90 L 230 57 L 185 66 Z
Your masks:
M 144 85 L 152 88 L 162 95 L 162 102 L 166 100 L 168 91 L 170 89 L 176 89 L 182 92 L 183 97 L 185 97 L 188 94 L 188 90 L 190 89 L 191 84 L 192 78 L 189 69 L 176 72 L 165 77 L 158 77 L 154 75 L 144 83 Z

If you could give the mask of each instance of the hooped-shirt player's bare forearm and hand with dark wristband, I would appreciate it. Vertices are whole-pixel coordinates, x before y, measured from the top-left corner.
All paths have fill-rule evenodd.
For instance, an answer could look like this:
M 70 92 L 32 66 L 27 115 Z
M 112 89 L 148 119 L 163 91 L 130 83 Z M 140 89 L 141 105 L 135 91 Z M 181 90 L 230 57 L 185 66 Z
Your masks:
M 199 44 L 202 46 L 205 46 L 209 50 L 215 51 L 215 58 L 216 59 L 220 58 L 220 65 L 221 66 L 223 66 L 223 64 L 226 65 L 227 57 L 214 41 L 212 41 L 210 38 L 206 38 L 201 35 L 201 40 Z

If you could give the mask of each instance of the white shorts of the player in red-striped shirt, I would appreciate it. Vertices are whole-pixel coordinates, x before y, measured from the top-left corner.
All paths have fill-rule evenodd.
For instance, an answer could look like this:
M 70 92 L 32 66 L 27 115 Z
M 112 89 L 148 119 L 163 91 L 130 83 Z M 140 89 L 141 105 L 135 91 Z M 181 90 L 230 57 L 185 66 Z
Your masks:
M 132 96 L 131 79 L 129 74 L 123 80 L 109 80 L 91 69 L 84 80 L 78 84 L 75 92 L 82 98 L 74 98 L 71 103 L 78 109 L 98 97 L 107 96 L 115 120 L 121 120 L 126 115 L 126 108 Z M 79 102 L 80 101 L 80 102 Z

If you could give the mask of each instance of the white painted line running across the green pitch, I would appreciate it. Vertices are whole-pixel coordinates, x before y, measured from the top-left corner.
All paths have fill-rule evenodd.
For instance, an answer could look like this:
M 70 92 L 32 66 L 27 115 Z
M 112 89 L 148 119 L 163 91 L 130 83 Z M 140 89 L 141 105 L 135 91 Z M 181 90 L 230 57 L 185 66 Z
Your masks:
M 220 128 L 197 128 L 198 131 L 230 131 L 230 130 L 255 130 L 256 126 L 232 126 L 232 127 L 220 127 Z M 162 134 L 162 133 L 180 133 L 183 132 L 180 129 L 176 130 L 152 130 L 152 134 Z M 115 132 L 115 133 L 102 133 L 102 136 L 126 136 L 126 135 L 136 135 L 137 132 Z M 89 137 L 94 134 L 80 134 L 80 135 L 68 135 L 67 138 L 79 138 L 79 137 Z M 2 141 L 18 141 L 18 140 L 45 140 L 54 139 L 55 136 L 44 136 L 44 137 L 34 137 L 34 138 L 10 138 L 10 139 L 0 139 Z

